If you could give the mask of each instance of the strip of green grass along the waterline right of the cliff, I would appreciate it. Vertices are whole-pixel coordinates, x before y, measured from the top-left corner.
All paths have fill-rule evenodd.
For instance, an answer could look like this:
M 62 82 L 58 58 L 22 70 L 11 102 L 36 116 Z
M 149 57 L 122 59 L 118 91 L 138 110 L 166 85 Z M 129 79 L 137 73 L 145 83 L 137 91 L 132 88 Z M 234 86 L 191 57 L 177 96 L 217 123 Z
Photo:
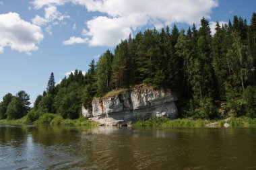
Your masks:
M 171 128 L 204 128 L 206 124 L 218 122 L 218 127 L 224 127 L 224 120 L 190 120 L 190 119 L 176 119 L 169 120 L 166 118 L 154 118 L 150 120 L 139 120 L 134 127 L 171 127 Z M 227 122 L 230 127 L 256 127 L 256 119 L 251 118 L 230 118 Z

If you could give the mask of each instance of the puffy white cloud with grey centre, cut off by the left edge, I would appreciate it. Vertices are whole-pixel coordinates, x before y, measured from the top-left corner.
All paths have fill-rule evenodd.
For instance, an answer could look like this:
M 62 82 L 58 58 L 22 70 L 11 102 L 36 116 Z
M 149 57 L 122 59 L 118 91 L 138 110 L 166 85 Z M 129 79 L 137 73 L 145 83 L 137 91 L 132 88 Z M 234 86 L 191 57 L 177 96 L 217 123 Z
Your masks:
M 38 50 L 38 44 L 44 35 L 39 26 L 26 22 L 18 13 L 0 14 L 0 52 L 5 47 L 30 54 Z

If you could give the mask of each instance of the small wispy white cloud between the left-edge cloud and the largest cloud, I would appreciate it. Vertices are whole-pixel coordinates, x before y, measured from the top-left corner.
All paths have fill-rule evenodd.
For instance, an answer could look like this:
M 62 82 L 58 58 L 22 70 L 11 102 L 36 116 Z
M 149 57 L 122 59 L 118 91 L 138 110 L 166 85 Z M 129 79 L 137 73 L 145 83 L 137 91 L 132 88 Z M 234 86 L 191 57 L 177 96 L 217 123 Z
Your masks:
M 36 15 L 36 17 L 32 19 L 32 23 L 42 26 L 49 22 L 63 21 L 65 18 L 69 19 L 70 17 L 69 15 L 63 15 L 61 12 L 57 11 L 57 7 L 49 6 L 44 8 L 44 17 Z

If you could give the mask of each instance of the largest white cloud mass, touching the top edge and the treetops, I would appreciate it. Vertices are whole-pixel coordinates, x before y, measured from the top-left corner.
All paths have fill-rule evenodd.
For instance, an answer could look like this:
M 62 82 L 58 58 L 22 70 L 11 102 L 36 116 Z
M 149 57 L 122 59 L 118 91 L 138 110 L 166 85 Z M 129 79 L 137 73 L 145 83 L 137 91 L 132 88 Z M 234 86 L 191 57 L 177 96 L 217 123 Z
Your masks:
M 176 22 L 199 24 L 201 17 L 210 19 L 218 0 L 34 0 L 36 8 L 73 3 L 88 11 L 102 14 L 86 22 L 90 46 L 115 46 L 121 39 L 143 26 L 157 29 Z

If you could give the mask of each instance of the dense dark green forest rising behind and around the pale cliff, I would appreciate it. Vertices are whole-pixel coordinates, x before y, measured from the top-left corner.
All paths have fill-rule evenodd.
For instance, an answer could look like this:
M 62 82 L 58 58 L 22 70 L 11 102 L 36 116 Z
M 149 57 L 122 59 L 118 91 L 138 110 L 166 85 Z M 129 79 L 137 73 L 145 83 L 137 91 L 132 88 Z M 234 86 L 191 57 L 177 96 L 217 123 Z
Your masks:
M 141 83 L 175 91 L 181 118 L 256 118 L 256 13 L 250 21 L 234 16 L 228 24 L 217 22 L 214 35 L 205 18 L 199 28 L 139 32 L 89 67 L 86 75 L 76 70 L 58 85 L 51 73 L 32 109 L 25 91 L 8 93 L 0 103 L 0 118 L 28 114 L 33 122 L 53 113 L 76 119 L 82 104 L 88 107 L 94 97 Z

